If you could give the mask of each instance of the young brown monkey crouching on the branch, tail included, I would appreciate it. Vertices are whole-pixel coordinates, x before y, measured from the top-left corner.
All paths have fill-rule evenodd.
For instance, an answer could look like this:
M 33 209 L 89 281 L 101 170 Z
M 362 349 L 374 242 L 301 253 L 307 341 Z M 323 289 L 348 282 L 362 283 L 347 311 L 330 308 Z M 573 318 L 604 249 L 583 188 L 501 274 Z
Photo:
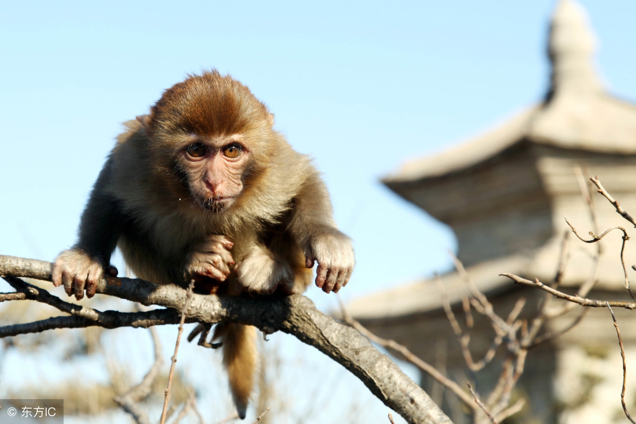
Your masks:
M 53 285 L 93 297 L 117 275 L 118 247 L 134 274 L 205 293 L 326 293 L 347 285 L 354 248 L 306 155 L 273 129 L 249 88 L 216 69 L 168 88 L 126 122 L 93 185 L 78 241 L 53 264 Z M 223 322 L 223 364 L 240 418 L 254 386 L 256 329 Z

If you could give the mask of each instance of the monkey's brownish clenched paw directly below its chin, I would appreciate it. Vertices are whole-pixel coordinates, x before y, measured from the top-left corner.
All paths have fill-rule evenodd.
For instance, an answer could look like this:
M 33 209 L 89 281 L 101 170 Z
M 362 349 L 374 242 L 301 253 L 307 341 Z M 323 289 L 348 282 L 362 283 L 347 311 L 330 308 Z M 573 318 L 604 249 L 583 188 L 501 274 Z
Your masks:
M 225 281 L 230 275 L 230 266 L 234 265 L 234 259 L 230 250 L 234 243 L 225 236 L 208 236 L 201 243 L 193 244 L 186 256 L 184 268 L 186 277 L 201 275 Z

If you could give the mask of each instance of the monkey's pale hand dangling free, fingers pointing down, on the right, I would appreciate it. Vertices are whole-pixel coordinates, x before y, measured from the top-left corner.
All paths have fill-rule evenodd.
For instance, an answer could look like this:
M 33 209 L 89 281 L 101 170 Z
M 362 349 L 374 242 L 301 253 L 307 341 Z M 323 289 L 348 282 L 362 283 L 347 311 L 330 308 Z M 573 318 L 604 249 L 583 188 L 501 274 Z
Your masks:
M 312 237 L 305 246 L 305 265 L 311 268 L 314 261 L 318 262 L 316 285 L 325 293 L 338 293 L 356 266 L 351 239 L 336 229 Z

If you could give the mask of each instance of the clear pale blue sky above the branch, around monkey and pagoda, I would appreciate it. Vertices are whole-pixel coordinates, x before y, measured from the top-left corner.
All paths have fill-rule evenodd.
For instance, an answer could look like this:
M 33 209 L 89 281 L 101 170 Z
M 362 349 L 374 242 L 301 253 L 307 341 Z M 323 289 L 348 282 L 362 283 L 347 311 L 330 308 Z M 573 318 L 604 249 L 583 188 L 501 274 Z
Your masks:
M 607 85 L 636 99 L 636 3 L 581 3 Z M 248 85 L 324 173 L 356 243 L 345 300 L 445 271 L 452 232 L 379 178 L 539 101 L 553 6 L 3 1 L 0 253 L 53 260 L 71 246 L 121 122 L 186 73 L 216 67 Z

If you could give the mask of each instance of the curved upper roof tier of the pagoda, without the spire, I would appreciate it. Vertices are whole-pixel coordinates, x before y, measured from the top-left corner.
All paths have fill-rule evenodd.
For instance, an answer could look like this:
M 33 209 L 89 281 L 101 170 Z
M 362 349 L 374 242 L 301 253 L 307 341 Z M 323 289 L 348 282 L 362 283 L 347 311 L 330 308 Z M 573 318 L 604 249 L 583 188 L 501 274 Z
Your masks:
M 396 190 L 402 183 L 450 176 L 523 140 L 567 150 L 636 154 L 636 105 L 608 94 L 555 95 L 466 143 L 406 162 L 382 182 Z

